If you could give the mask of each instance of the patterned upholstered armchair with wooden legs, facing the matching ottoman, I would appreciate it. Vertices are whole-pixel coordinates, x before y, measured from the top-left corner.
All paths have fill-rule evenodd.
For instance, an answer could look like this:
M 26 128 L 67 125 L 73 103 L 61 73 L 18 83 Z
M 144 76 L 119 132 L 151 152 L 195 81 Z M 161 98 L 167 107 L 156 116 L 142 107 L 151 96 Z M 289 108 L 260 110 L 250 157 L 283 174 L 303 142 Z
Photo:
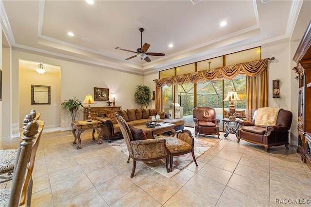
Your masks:
M 166 171 L 169 173 L 169 159 L 170 152 L 166 147 L 165 139 L 143 139 L 143 140 L 134 140 L 130 127 L 119 114 L 117 116 L 117 121 L 120 126 L 123 138 L 127 145 L 128 150 L 128 159 L 133 159 L 133 167 L 131 177 L 135 174 L 136 161 L 150 161 L 156 159 L 166 159 Z

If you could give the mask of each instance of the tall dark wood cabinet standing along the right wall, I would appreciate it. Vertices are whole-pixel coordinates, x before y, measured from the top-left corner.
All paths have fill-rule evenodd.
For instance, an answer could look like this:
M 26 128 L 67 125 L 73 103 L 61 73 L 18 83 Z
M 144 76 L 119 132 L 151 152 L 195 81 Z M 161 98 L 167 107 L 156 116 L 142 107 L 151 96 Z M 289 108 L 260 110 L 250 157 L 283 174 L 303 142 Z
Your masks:
M 298 147 L 301 159 L 311 169 L 311 21 L 293 59 L 298 74 Z

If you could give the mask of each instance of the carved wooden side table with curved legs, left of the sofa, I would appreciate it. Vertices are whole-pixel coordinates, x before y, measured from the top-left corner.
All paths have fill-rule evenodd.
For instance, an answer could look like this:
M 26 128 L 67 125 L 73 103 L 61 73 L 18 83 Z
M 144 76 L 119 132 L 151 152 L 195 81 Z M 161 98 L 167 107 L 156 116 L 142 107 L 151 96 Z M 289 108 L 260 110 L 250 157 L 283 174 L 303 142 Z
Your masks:
M 86 129 L 93 129 L 92 140 L 95 140 L 94 133 L 95 133 L 95 130 L 97 130 L 98 144 L 101 144 L 101 141 L 100 141 L 100 137 L 101 136 L 100 135 L 101 135 L 101 131 L 102 131 L 102 129 L 101 129 L 102 122 L 97 121 L 97 120 L 92 120 L 91 122 L 87 122 L 85 120 L 85 121 L 72 122 L 72 124 L 73 124 L 72 134 L 74 136 L 73 144 L 77 143 L 77 138 L 78 138 L 77 149 L 81 149 L 81 138 L 80 138 L 80 135 Z

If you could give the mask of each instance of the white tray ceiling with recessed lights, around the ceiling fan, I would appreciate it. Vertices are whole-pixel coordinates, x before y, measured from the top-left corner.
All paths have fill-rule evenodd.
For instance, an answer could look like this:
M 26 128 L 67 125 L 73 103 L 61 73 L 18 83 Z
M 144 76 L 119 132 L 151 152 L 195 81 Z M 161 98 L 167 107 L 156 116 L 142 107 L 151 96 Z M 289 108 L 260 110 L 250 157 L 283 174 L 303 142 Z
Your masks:
M 302 1 L 2 0 L 2 25 L 13 47 L 90 64 L 149 73 L 289 38 Z M 220 27 L 221 21 L 225 27 Z M 150 44 L 147 63 L 134 50 Z M 73 32 L 73 37 L 67 33 Z M 275 35 L 269 36 L 272 32 Z M 86 42 L 82 38 L 88 38 Z M 172 43 L 173 48 L 168 45 Z

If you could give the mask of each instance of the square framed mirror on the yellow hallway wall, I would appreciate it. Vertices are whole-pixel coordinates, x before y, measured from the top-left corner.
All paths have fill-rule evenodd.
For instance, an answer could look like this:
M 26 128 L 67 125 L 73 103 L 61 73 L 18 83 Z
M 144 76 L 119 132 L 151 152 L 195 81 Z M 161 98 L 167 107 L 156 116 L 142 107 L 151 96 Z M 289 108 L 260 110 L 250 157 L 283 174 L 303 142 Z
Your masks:
M 31 104 L 51 104 L 51 86 L 31 85 Z

